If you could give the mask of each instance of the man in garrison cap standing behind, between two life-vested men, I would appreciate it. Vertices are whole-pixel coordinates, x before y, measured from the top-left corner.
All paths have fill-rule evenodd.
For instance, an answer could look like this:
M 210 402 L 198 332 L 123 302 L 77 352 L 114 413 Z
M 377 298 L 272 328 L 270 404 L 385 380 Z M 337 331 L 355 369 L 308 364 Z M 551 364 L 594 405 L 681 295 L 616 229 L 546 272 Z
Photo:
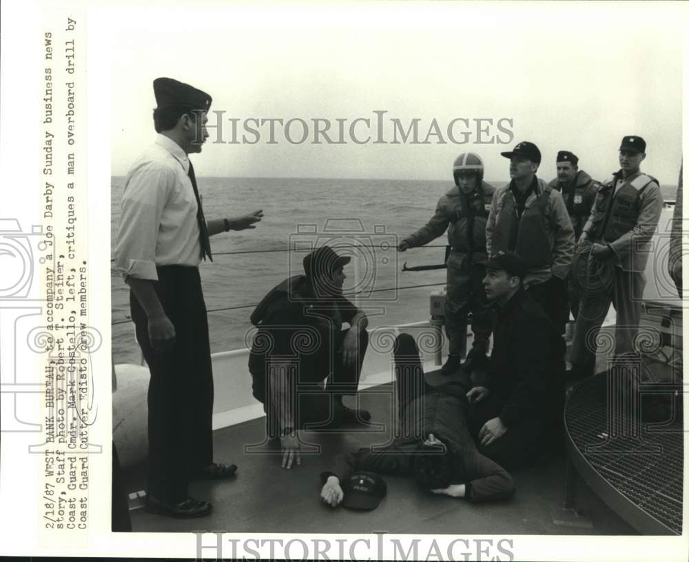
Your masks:
M 564 199 L 564 204 L 574 227 L 574 239 L 579 240 L 579 237 L 582 235 L 582 229 L 586 221 L 588 221 L 588 216 L 591 214 L 596 191 L 601 184 L 592 179 L 584 170 L 579 170 L 579 158 L 568 150 L 557 152 L 555 166 L 557 168 L 557 177 L 548 185 L 562 193 L 562 199 Z M 577 312 L 579 312 L 579 292 L 572 281 L 571 272 L 566 279 L 566 284 L 569 295 L 569 310 L 572 311 L 576 320 Z M 567 317 L 569 316 L 569 310 L 565 312 Z

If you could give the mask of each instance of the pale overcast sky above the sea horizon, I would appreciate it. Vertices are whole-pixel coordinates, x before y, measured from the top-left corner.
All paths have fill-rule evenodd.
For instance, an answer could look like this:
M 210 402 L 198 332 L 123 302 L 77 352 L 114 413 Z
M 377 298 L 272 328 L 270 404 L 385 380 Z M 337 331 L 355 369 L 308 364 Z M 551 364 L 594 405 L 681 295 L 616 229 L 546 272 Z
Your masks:
M 672 6 L 642 3 L 440 3 L 329 6 L 271 10 L 235 6 L 126 10 L 112 26 L 112 174 L 125 174 L 154 141 L 152 81 L 167 76 L 191 83 L 213 97 L 232 141 L 238 119 L 240 143 L 207 143 L 194 156 L 198 175 L 249 177 L 370 177 L 451 179 L 453 159 L 478 152 L 486 177 L 507 179 L 500 151 L 521 140 L 542 151 L 539 176 L 555 175 L 557 150 L 571 150 L 580 167 L 599 179 L 617 170 L 624 134 L 648 143 L 643 169 L 661 183 L 675 183 L 681 161 L 682 37 Z M 670 11 L 668 11 L 670 10 Z M 621 22 L 624 22 L 621 23 Z M 377 117 L 385 111 L 384 140 L 391 119 L 406 129 L 418 121 L 423 141 L 433 124 L 442 140 L 429 144 L 373 143 Z M 216 117 L 211 114 L 211 123 Z M 356 144 L 355 136 L 371 141 Z M 304 143 L 291 145 L 276 123 L 258 127 L 256 144 L 242 143 L 249 118 L 303 119 Z M 317 145 L 314 118 L 347 119 L 345 144 Z M 456 121 L 451 143 L 447 127 Z M 487 132 L 477 134 L 475 119 Z M 502 128 L 497 129 L 497 121 Z M 256 124 L 252 124 L 256 128 Z M 462 134 L 465 131 L 466 134 Z M 292 139 L 302 126 L 292 123 Z M 333 134 L 334 132 L 334 134 Z M 468 136 L 467 136 L 468 135 Z M 477 141 L 494 143 L 479 144 Z M 509 140 L 507 144 L 497 141 Z M 247 134 L 253 141 L 256 135 Z M 398 137 L 399 139 L 399 137 Z

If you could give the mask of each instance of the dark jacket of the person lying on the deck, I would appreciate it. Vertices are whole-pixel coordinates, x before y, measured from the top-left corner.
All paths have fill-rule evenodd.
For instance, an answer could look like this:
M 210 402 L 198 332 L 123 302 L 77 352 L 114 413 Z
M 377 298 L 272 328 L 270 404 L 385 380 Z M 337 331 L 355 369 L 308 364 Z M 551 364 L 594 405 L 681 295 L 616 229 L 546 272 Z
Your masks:
M 466 426 L 466 389 L 460 385 L 443 385 L 429 390 L 412 401 L 405 412 L 422 411 L 411 421 L 414 439 L 398 438 L 383 450 L 371 452 L 362 448 L 347 456 L 352 470 L 369 470 L 383 474 L 413 475 L 413 451 L 434 434 L 455 456 L 458 477 L 453 483 L 466 485 L 466 499 L 473 502 L 506 499 L 515 492 L 512 476 L 491 459 L 480 454 Z M 406 426 L 409 419 L 402 420 Z M 342 467 L 340 467 L 341 469 Z M 342 474 L 345 471 L 340 472 Z

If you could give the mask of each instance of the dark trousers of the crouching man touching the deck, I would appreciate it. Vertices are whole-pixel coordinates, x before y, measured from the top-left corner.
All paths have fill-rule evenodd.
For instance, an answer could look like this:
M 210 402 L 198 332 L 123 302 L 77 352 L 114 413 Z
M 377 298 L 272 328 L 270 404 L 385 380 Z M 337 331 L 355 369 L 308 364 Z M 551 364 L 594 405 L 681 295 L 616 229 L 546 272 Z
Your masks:
M 314 365 L 304 361 L 298 366 L 298 384 L 296 387 L 296 429 L 318 430 L 333 428 L 342 423 L 345 406 L 342 397 L 353 396 L 359 386 L 361 367 L 369 345 L 369 334 L 366 330 L 359 332 L 358 354 L 353 365 L 342 363 L 340 345 L 350 328 L 340 332 L 335 349 L 331 354 L 330 365 Z M 269 367 L 268 367 L 269 368 Z M 325 388 L 322 383 L 325 381 Z M 269 436 L 278 435 L 279 423 L 272 418 L 272 411 L 264 402 L 267 412 L 267 431 Z

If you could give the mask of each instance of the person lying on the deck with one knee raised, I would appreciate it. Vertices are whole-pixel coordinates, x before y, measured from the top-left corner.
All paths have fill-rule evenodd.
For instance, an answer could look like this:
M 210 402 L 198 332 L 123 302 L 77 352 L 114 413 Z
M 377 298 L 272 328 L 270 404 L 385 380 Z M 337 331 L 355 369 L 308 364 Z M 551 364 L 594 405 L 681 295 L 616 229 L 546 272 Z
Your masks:
M 338 474 L 347 472 L 346 460 L 351 470 L 413 476 L 421 488 L 434 494 L 472 502 L 511 497 L 512 477 L 480 454 L 469 434 L 465 415 L 469 385 L 426 383 L 418 348 L 409 334 L 400 334 L 395 341 L 395 378 L 399 427 L 393 443 L 345 456 L 336 468 Z M 344 497 L 338 474 L 321 474 L 321 499 L 333 507 Z

